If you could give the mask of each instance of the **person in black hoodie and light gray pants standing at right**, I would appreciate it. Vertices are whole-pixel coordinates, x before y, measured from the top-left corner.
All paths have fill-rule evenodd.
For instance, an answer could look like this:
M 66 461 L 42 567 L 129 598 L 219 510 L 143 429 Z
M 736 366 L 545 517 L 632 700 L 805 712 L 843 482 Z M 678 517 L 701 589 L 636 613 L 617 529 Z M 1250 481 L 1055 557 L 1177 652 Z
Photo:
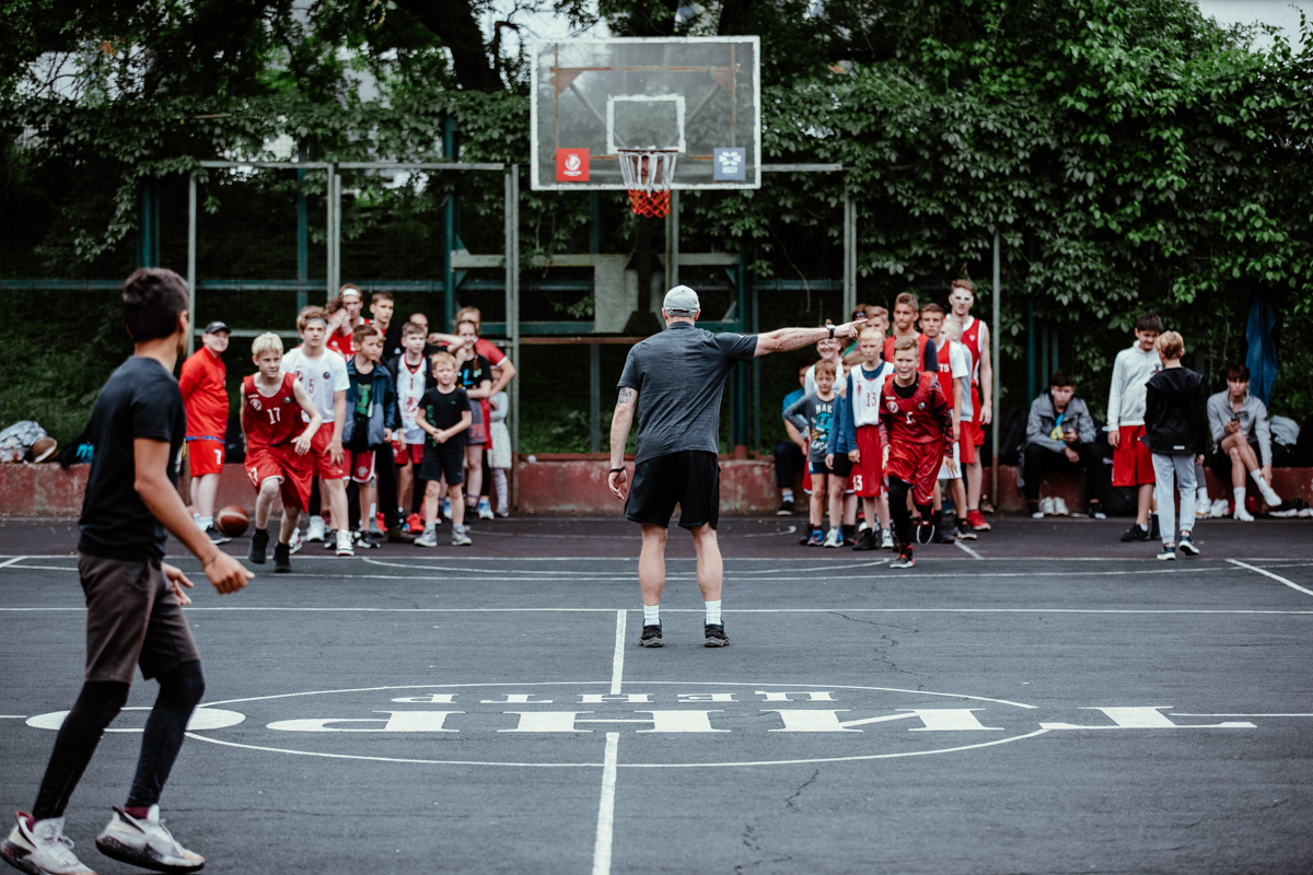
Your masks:
M 1146 386 L 1144 442 L 1153 453 L 1154 497 L 1162 527 L 1158 559 L 1175 559 L 1178 548 L 1187 556 L 1197 556 L 1199 547 L 1190 534 L 1195 521 L 1195 466 L 1203 463 L 1209 443 L 1208 394 L 1204 378 L 1180 363 L 1186 353 L 1180 335 L 1163 332 L 1154 349 L 1162 359 L 1162 370 L 1149 378 Z M 1174 487 L 1180 492 L 1179 542 Z

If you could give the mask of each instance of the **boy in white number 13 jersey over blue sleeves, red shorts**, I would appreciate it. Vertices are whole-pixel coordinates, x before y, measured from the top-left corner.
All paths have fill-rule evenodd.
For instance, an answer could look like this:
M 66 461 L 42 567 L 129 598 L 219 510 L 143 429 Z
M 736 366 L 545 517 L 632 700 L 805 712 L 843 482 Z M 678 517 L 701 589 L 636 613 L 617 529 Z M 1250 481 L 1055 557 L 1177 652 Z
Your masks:
M 835 428 L 830 430 L 827 459 L 834 459 L 836 475 L 843 472 L 843 467 L 851 470 L 852 484 L 867 516 L 867 529 L 853 546 L 857 551 L 892 550 L 894 546 L 889 531 L 884 453 L 880 446 L 880 394 L 894 370 L 893 365 L 880 359 L 884 340 L 878 327 L 868 325 L 857 336 L 861 361 L 848 371 L 847 391 L 835 403 Z M 847 466 L 840 463 L 844 455 Z M 878 543 L 876 527 L 871 525 L 874 519 L 880 521 Z

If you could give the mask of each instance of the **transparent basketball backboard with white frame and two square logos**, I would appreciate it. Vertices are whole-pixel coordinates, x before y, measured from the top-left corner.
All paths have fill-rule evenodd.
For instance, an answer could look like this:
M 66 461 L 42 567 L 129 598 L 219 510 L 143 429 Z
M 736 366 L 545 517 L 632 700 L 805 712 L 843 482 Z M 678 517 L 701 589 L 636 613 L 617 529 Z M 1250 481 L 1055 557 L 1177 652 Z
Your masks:
M 533 39 L 532 186 L 624 189 L 617 150 L 679 150 L 675 189 L 762 186 L 758 37 Z

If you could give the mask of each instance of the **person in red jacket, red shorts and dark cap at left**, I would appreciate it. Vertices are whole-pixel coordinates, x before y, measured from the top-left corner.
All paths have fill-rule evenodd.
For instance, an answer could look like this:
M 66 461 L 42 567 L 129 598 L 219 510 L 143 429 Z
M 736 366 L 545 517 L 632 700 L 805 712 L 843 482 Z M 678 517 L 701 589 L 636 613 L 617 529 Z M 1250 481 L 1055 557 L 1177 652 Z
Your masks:
M 223 438 L 228 432 L 228 327 L 211 321 L 201 335 L 201 349 L 183 362 L 177 388 L 186 408 L 186 458 L 192 467 L 192 518 L 210 542 L 231 540 L 214 527 L 214 496 L 223 472 Z

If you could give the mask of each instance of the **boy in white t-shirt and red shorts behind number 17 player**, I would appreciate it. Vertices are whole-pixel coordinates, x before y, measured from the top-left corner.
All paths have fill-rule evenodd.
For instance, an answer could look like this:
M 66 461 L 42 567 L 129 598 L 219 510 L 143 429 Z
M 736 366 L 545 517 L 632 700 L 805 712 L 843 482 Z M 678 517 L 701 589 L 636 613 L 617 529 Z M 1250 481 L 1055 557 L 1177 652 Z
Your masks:
M 315 432 L 310 445 L 310 474 L 318 476 L 320 488 L 328 496 L 328 509 L 337 527 L 337 555 L 352 556 L 351 531 L 347 526 L 347 476 L 343 468 L 341 429 L 347 421 L 347 362 L 326 346 L 328 317 L 319 307 L 305 307 L 297 315 L 297 333 L 301 345 L 282 357 L 282 371 L 295 374 L 319 411 L 323 425 Z M 302 413 L 302 418 L 307 417 Z M 324 539 L 324 518 L 310 517 L 307 540 Z

